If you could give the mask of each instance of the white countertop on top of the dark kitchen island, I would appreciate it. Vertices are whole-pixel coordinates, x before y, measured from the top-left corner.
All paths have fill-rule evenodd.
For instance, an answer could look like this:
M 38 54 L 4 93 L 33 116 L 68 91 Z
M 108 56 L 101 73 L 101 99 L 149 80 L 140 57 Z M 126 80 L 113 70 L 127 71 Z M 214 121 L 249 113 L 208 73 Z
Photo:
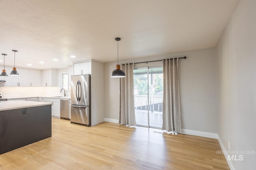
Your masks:
M 2 101 L 0 102 L 0 111 L 20 109 L 24 107 L 45 106 L 45 105 L 51 105 L 51 103 L 32 102 L 32 101 L 24 101 L 24 100 Z

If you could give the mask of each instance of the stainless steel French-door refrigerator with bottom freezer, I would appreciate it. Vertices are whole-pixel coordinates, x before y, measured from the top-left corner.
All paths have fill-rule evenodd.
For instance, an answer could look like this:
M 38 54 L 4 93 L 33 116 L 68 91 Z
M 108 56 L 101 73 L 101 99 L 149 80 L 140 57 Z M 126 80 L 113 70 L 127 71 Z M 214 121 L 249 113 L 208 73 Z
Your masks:
M 91 125 L 90 74 L 71 76 L 70 122 Z

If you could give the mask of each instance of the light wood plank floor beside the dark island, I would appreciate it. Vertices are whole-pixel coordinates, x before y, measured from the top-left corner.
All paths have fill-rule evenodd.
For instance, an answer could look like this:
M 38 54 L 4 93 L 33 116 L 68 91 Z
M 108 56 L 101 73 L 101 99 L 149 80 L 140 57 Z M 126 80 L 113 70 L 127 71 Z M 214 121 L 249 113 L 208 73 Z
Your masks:
M 0 155 L 0 169 L 229 169 L 218 140 L 52 118 L 52 137 Z

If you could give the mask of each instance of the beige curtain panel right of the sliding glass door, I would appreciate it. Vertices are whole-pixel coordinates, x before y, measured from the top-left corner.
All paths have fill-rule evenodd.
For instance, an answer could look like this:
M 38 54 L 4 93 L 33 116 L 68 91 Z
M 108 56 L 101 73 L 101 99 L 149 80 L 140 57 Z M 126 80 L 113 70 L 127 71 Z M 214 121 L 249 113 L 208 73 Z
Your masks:
M 163 60 L 164 97 L 162 130 L 182 133 L 178 58 Z

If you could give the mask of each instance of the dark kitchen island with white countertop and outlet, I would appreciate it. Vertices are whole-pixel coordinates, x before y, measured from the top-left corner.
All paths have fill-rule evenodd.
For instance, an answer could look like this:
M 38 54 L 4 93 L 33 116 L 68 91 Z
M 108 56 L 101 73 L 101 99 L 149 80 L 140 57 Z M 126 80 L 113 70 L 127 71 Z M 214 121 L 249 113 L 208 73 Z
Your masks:
M 52 136 L 52 105 L 46 102 L 0 102 L 0 154 Z

